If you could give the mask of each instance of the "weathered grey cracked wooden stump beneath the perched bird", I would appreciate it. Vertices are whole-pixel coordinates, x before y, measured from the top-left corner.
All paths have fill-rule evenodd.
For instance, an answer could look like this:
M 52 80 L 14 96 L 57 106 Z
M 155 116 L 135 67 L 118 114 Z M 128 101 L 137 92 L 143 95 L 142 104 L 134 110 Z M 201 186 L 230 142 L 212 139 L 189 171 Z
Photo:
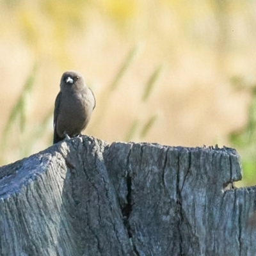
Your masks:
M 255 256 L 236 150 L 61 141 L 0 168 L 1 255 Z

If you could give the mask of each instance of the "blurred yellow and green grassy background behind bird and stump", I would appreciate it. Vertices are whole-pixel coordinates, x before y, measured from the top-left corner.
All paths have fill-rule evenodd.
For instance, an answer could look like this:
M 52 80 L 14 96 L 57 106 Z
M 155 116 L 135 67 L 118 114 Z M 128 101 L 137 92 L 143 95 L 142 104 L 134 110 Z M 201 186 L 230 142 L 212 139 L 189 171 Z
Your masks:
M 102 140 L 235 147 L 256 182 L 256 2 L 1 0 L 0 164 L 52 143 L 65 70 Z

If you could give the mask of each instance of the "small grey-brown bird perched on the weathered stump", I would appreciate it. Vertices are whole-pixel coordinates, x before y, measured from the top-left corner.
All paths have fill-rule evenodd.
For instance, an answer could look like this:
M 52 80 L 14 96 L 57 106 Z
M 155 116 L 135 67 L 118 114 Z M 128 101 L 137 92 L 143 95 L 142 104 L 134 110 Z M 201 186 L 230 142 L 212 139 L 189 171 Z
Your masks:
M 95 108 L 95 97 L 76 71 L 65 72 L 54 106 L 53 143 L 78 136 L 86 128 Z

